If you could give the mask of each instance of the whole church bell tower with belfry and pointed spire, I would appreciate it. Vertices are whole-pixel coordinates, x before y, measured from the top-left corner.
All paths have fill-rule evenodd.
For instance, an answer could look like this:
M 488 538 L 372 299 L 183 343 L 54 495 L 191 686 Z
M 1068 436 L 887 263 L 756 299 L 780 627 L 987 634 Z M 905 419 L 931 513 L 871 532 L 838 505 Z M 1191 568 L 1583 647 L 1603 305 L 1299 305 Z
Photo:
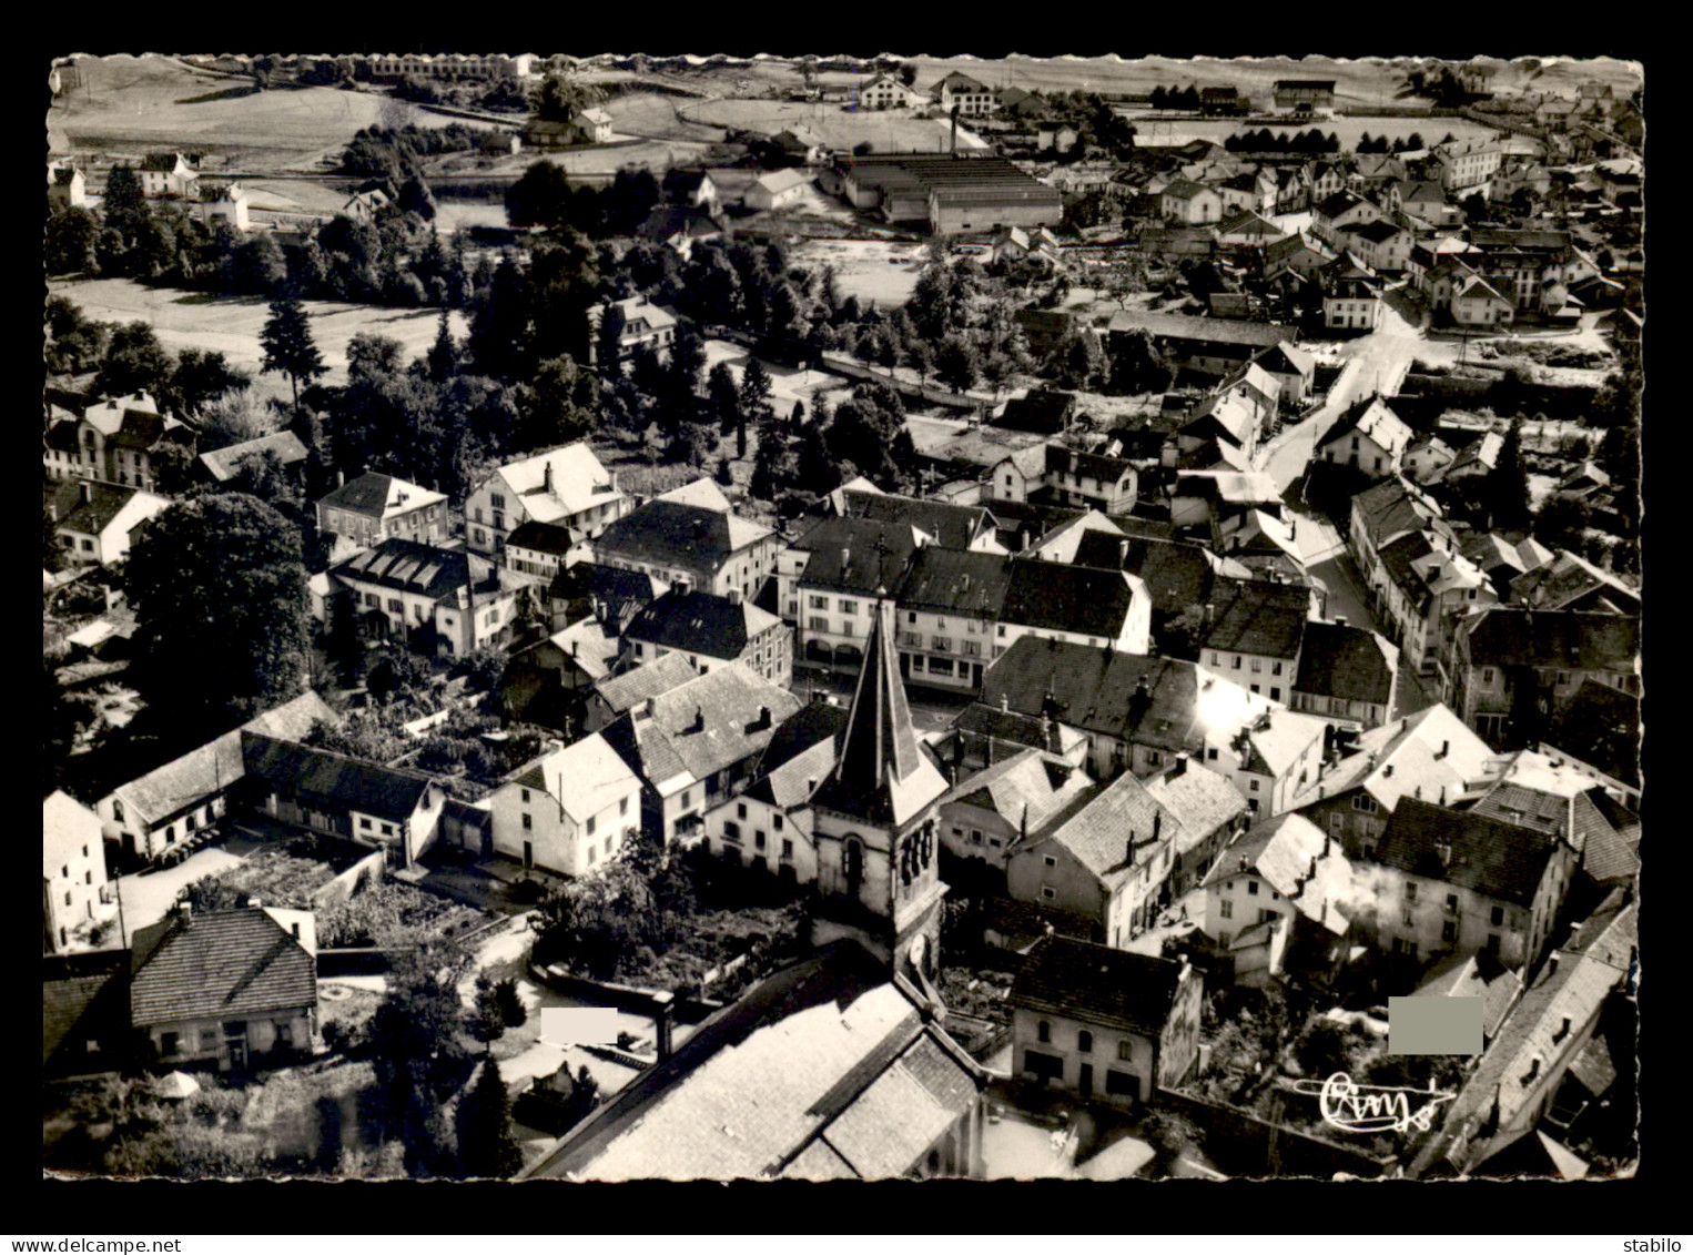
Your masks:
M 946 777 L 911 727 L 894 654 L 894 606 L 877 589 L 875 618 L 835 769 L 813 794 L 818 901 L 811 942 L 857 937 L 901 976 L 940 970 L 941 898 L 936 813 Z

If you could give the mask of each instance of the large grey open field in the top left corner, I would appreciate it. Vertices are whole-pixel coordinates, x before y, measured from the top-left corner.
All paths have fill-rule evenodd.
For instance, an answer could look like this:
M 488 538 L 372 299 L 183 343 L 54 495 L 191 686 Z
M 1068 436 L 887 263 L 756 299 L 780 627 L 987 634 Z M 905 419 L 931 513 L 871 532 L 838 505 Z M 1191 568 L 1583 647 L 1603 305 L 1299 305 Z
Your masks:
M 442 127 L 457 120 L 376 91 L 256 91 L 239 78 L 190 69 L 163 56 L 83 58 L 76 66 L 83 86 L 59 97 L 47 113 L 52 152 L 130 156 L 171 147 L 242 166 L 318 169 L 339 159 L 364 127 Z

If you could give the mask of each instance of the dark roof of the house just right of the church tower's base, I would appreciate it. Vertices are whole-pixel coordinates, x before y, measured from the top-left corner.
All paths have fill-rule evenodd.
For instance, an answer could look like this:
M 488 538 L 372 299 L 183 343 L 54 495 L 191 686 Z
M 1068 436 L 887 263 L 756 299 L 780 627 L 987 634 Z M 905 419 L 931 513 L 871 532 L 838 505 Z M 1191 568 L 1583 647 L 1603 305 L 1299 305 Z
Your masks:
M 1183 964 L 1046 937 L 1023 960 L 1011 986 L 1012 1006 L 1124 1025 L 1160 1037 L 1170 1020 Z

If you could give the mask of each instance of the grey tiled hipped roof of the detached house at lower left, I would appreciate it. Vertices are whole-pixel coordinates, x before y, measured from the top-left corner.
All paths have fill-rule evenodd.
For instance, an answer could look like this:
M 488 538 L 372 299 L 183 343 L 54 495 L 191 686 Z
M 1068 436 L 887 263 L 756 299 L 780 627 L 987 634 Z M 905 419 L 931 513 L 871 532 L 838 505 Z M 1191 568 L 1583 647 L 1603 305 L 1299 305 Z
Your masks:
M 176 915 L 137 928 L 129 1008 L 137 1028 L 317 1006 L 317 959 L 259 908 Z

